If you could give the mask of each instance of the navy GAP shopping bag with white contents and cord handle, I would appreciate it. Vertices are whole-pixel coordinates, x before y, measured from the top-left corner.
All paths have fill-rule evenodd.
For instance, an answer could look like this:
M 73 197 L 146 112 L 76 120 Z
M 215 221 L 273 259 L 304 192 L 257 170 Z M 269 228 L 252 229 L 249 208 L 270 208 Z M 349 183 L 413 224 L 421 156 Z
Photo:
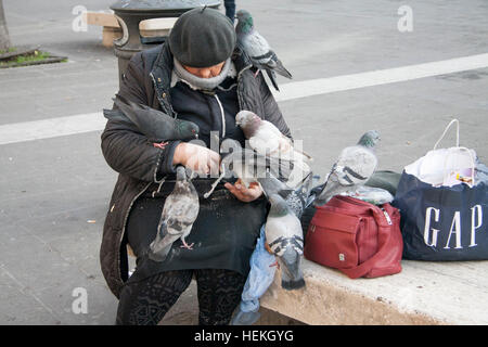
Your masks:
M 453 123 L 457 146 L 437 150 Z M 439 141 L 404 168 L 391 203 L 400 209 L 403 258 L 488 259 L 488 181 L 476 170 L 481 164 L 473 150 L 459 146 L 457 119 Z

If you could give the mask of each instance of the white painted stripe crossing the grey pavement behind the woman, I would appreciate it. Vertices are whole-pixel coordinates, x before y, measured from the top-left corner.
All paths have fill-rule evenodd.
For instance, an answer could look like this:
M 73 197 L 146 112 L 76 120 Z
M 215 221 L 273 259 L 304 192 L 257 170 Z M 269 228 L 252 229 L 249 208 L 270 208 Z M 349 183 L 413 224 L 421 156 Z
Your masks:
M 488 53 L 280 86 L 278 102 L 488 67 Z M 0 145 L 103 130 L 101 112 L 0 126 Z

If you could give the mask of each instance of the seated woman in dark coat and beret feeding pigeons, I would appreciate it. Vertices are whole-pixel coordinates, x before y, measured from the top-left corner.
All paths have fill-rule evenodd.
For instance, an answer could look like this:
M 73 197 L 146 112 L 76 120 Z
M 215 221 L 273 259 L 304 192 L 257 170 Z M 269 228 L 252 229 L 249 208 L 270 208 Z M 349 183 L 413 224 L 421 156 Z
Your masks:
M 240 301 L 268 208 L 257 183 L 246 189 L 234 179 L 203 198 L 215 179 L 194 178 L 200 213 L 187 237 L 193 249 L 181 248 L 177 241 L 164 261 L 147 257 L 165 198 L 175 185 L 176 166 L 201 174 L 218 169 L 220 155 L 209 150 L 210 139 L 217 133 L 220 143 L 233 139 L 244 145 L 234 118 L 239 111 L 253 111 L 291 137 L 262 75 L 255 77 L 235 42 L 228 17 L 217 10 L 194 9 L 179 17 L 165 44 L 134 54 L 123 76 L 121 97 L 195 123 L 207 147 L 182 141 L 156 147 L 133 128 L 107 123 L 102 152 L 119 176 L 100 257 L 105 280 L 119 298 L 117 324 L 157 324 L 192 278 L 200 324 L 228 324 Z M 127 244 L 137 256 L 131 277 Z

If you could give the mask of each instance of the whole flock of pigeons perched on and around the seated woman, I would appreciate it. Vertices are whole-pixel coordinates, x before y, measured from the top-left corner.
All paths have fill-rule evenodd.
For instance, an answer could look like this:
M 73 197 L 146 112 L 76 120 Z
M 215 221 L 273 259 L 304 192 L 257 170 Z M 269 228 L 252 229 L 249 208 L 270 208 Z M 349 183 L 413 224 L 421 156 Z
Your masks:
M 288 78 L 291 74 L 254 28 L 251 14 L 241 10 L 237 20 L 237 44 L 257 70 L 265 70 L 278 89 L 275 73 Z M 198 127 L 191 121 L 174 119 L 118 94 L 114 102 L 118 110 L 104 110 L 104 116 L 133 127 L 155 146 L 164 146 L 170 140 L 185 141 L 198 137 Z M 334 195 L 354 193 L 369 180 L 377 166 L 374 146 L 380 140 L 378 132 L 368 131 L 356 145 L 344 149 L 321 189 L 317 194 L 311 194 L 312 158 L 309 155 L 296 151 L 292 140 L 273 124 L 249 111 L 239 112 L 235 124 L 242 128 L 251 149 L 243 149 L 235 143 L 228 155 L 222 155 L 222 174 L 204 197 L 211 195 L 218 181 L 228 171 L 232 171 L 246 187 L 257 181 L 271 205 L 265 226 L 266 248 L 277 257 L 282 269 L 282 287 L 301 288 L 305 286 L 300 268 L 304 254 L 301 214 L 311 204 L 321 206 Z M 150 245 L 149 257 L 152 260 L 166 259 L 178 239 L 182 241 L 181 247 L 192 249 L 193 244 L 189 245 L 185 237 L 197 218 L 198 208 L 198 194 L 184 167 L 179 166 L 175 189 L 166 198 L 156 237 Z

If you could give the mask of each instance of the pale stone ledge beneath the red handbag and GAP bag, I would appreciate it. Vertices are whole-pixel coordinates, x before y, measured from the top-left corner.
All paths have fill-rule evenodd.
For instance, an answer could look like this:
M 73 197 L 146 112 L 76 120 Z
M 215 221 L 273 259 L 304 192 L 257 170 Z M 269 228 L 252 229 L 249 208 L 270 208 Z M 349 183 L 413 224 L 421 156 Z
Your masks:
M 488 324 L 488 261 L 402 260 L 400 273 L 351 280 L 307 259 L 306 287 L 281 288 L 281 275 L 261 307 L 313 325 Z

